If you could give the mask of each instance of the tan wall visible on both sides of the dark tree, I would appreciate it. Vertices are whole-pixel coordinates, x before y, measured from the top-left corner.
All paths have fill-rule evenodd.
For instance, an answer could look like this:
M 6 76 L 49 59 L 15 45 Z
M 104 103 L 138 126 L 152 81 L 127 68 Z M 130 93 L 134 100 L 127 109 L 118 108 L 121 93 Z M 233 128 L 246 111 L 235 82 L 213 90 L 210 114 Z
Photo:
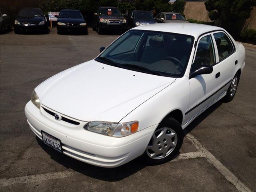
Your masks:
M 186 5 L 184 8 L 184 14 L 186 15 L 186 18 L 195 19 L 198 21 L 211 22 L 204 2 L 206 1 L 186 1 Z M 251 10 L 250 18 L 245 21 L 242 29 L 256 29 L 256 7 L 253 7 L 253 9 Z

